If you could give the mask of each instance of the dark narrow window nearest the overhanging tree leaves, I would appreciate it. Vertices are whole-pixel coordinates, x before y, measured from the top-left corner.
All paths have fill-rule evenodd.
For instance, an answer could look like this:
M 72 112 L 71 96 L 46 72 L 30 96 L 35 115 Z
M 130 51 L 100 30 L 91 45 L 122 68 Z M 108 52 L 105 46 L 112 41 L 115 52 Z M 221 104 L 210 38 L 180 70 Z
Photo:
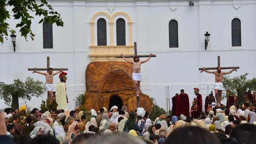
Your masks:
M 52 24 L 43 22 L 43 48 L 52 49 Z

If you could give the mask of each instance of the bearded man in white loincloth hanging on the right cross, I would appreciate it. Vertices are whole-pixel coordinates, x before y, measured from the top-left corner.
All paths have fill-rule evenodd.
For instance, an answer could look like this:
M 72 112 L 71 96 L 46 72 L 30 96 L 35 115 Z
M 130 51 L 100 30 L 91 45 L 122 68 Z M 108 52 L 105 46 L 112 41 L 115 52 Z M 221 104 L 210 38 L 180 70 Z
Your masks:
M 217 105 L 221 106 L 221 93 L 222 93 L 222 90 L 224 90 L 223 83 L 222 83 L 222 76 L 223 74 L 230 74 L 233 71 L 237 72 L 237 69 L 233 67 L 233 70 L 230 70 L 229 72 L 222 72 L 221 66 L 218 66 L 217 71 L 205 70 L 205 67 L 203 67 L 203 70 L 201 70 L 201 73 L 203 71 L 215 75 L 215 83 L 214 83 L 215 98 L 216 98 Z

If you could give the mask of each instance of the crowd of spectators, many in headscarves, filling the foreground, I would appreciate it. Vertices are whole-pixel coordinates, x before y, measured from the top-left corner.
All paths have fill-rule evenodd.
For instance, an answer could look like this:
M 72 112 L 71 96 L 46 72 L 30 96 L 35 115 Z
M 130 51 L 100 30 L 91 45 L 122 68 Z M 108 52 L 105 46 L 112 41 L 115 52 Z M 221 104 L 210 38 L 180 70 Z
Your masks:
M 56 110 L 56 118 L 34 108 L 31 115 L 26 108 L 6 108 L 0 114 L 0 143 L 8 144 L 253 144 L 256 141 L 256 108 L 234 105 L 230 109 L 216 109 L 200 118 L 159 114 L 155 120 L 150 113 L 138 116 L 137 110 L 127 107 L 110 111 Z

